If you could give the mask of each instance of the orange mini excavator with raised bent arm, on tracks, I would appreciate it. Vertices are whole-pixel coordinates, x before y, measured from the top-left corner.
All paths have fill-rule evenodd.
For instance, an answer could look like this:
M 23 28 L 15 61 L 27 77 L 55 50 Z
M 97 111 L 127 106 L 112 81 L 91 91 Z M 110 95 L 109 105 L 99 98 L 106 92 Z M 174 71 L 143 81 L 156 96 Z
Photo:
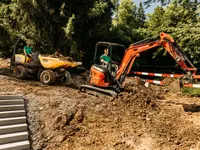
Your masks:
M 174 39 L 166 33 L 160 33 L 160 35 L 157 37 L 159 38 L 153 41 L 152 38 L 148 38 L 131 44 L 129 48 L 125 50 L 121 64 L 117 70 L 112 69 L 113 66 L 116 68 L 117 65 L 114 61 L 111 61 L 109 64 L 111 67 L 104 67 L 94 62 L 90 69 L 89 85 L 81 85 L 80 91 L 85 92 L 86 90 L 94 90 L 116 97 L 117 94 L 123 90 L 125 78 L 127 74 L 129 74 L 136 57 L 138 57 L 141 52 L 159 46 L 162 46 L 174 58 L 182 70 L 186 72 L 185 78 L 192 80 L 193 76 L 196 74 L 197 69 L 186 57 L 186 55 L 180 50 Z M 104 42 L 104 44 L 107 44 L 108 46 L 121 46 L 119 44 L 107 42 Z M 110 56 L 112 59 L 112 51 L 110 51 Z M 94 59 L 96 59 L 96 57 L 97 48 L 95 50 Z

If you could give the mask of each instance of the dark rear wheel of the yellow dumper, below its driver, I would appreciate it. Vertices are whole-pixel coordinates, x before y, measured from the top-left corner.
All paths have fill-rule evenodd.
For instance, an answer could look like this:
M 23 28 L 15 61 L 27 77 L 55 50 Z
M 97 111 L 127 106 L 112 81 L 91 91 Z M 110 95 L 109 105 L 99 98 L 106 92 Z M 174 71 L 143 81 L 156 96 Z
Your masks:
M 13 69 L 13 74 L 15 77 L 19 79 L 26 79 L 27 78 L 27 71 L 26 68 L 22 65 L 17 65 Z

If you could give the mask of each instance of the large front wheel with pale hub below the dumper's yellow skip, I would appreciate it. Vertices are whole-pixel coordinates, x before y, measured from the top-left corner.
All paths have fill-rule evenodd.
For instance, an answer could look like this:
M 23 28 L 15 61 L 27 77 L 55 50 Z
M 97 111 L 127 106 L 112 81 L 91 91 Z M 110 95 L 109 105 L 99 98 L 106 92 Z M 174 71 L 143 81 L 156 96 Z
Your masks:
M 40 81 L 44 84 L 52 84 L 56 80 L 56 75 L 52 70 L 43 70 L 40 74 Z

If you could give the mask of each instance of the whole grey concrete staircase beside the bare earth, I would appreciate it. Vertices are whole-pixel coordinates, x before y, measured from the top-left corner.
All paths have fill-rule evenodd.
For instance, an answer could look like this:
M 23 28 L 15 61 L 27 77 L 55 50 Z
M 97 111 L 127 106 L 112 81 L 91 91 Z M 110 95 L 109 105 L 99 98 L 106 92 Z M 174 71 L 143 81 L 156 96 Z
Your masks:
M 29 150 L 23 96 L 0 96 L 0 150 Z

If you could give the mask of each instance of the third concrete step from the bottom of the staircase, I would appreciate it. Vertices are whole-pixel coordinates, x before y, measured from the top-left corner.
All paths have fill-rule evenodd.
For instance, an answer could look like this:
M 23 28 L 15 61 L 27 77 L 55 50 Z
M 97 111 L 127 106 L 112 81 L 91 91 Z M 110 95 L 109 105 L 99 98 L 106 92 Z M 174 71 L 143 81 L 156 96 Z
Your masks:
M 27 124 L 0 126 L 0 135 L 27 131 Z

